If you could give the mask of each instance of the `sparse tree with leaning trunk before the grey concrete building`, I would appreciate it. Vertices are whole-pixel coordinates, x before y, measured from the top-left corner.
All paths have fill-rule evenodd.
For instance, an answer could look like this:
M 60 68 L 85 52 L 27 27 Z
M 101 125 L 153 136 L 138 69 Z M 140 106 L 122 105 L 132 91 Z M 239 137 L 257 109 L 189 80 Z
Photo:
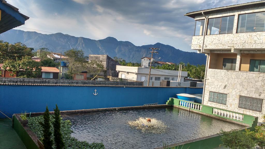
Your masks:
M 90 62 L 85 62 L 84 67 L 87 72 L 90 72 L 94 77 L 91 80 L 94 80 L 98 74 L 104 69 L 102 62 L 96 60 L 91 60 Z

